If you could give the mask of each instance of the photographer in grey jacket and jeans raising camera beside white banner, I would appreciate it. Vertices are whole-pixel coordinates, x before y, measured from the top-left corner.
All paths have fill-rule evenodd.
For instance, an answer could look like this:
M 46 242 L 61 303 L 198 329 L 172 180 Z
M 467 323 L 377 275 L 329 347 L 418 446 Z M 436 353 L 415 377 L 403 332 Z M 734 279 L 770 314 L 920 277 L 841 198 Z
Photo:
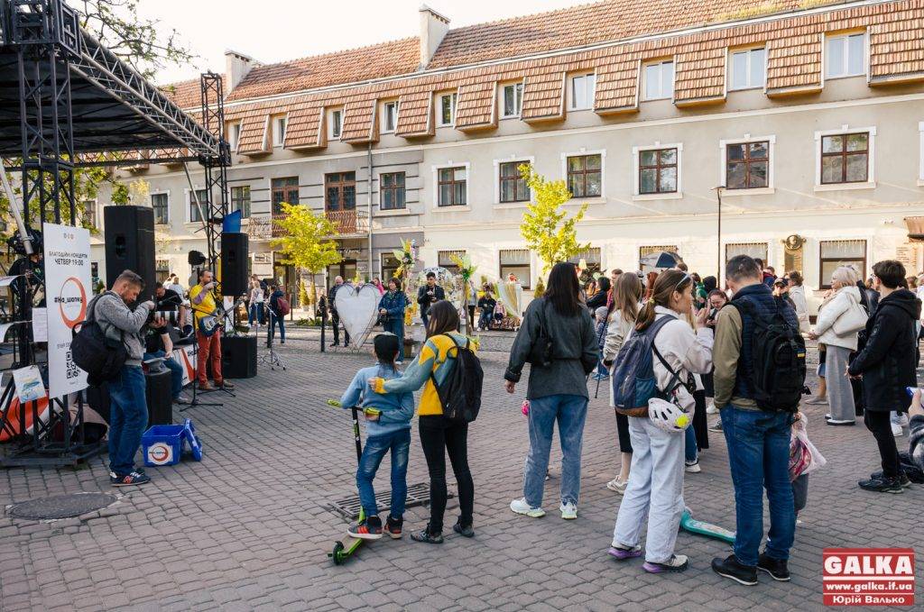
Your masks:
M 95 298 L 88 306 L 97 325 L 110 341 L 125 346 L 127 359 L 116 378 L 109 381 L 111 414 L 109 418 L 109 482 L 112 486 L 144 485 L 151 482 L 143 471 L 135 469 L 135 453 L 141 445 L 141 434 L 148 423 L 148 402 L 145 396 L 144 328 L 164 327 L 164 321 L 148 323 L 154 303 L 147 301 L 134 310 L 134 304 L 144 289 L 144 281 L 131 270 L 116 278 L 113 288 Z

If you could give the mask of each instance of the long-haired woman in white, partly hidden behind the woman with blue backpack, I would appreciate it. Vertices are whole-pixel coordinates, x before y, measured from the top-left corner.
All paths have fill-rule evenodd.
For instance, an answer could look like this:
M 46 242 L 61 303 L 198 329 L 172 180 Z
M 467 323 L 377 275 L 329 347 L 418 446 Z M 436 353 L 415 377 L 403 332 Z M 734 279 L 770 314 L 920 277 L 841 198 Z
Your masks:
M 613 311 L 606 326 L 606 341 L 603 343 L 603 365 L 610 368 L 612 377 L 616 355 L 623 342 L 632 333 L 638 318 L 641 300 L 641 281 L 634 272 L 625 272 L 616 277 L 613 284 Z M 612 383 L 612 381 L 611 381 Z M 613 384 L 610 384 L 610 406 L 615 407 Z M 632 440 L 629 438 L 628 417 L 616 413 L 616 433 L 619 436 L 619 456 L 622 461 L 619 475 L 606 483 L 606 488 L 620 495 L 626 493 L 629 482 L 629 466 L 632 464 Z

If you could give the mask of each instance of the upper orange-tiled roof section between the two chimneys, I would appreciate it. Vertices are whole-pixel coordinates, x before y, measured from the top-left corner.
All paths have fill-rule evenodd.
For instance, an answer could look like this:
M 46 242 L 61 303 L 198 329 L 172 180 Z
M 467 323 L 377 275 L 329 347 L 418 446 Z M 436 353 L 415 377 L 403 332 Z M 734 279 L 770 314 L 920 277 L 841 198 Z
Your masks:
M 402 75 L 420 64 L 419 40 L 406 38 L 333 54 L 254 66 L 227 100 L 249 100 L 289 91 Z

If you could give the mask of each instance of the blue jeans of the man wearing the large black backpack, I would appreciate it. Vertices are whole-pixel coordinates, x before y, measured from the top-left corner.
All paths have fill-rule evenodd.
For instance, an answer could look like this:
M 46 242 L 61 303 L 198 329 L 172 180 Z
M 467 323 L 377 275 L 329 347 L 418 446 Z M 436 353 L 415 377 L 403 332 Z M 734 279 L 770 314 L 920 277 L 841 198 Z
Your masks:
M 796 533 L 793 486 L 789 481 L 788 413 L 722 409 L 722 431 L 735 485 L 737 534 L 735 556 L 744 565 L 757 565 L 763 537 L 763 489 L 770 502 L 770 532 L 765 552 L 786 560 Z

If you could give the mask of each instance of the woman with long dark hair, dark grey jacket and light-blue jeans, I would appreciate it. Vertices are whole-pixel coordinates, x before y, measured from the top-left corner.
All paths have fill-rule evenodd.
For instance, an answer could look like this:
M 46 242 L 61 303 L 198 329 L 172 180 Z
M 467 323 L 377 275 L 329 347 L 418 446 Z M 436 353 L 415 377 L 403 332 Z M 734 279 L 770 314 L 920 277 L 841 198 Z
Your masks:
M 600 348 L 590 313 L 578 300 L 575 266 L 558 263 L 549 274 L 548 289 L 541 299 L 527 306 L 523 324 L 510 349 L 504 374 L 506 390 L 513 393 L 540 330 L 551 332 L 552 362 L 529 368 L 529 455 L 523 477 L 523 498 L 510 510 L 541 517 L 545 474 L 555 421 L 562 446 L 561 506 L 563 519 L 577 519 L 580 493 L 580 454 L 587 418 L 587 375 L 597 366 Z

